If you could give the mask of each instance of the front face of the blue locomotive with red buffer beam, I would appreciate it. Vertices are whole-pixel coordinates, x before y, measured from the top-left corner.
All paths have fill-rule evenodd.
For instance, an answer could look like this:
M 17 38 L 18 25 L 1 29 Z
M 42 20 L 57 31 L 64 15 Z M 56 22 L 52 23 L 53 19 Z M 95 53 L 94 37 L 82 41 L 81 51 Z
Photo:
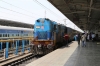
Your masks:
M 34 40 L 32 41 L 34 51 L 39 54 L 53 48 L 52 22 L 49 19 L 40 18 L 34 24 Z

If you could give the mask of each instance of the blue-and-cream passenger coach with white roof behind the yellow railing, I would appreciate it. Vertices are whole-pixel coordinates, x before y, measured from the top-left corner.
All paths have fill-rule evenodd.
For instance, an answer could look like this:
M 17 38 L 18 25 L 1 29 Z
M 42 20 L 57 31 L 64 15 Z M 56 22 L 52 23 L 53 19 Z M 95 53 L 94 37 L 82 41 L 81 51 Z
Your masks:
M 9 48 L 16 46 L 15 40 L 19 41 L 19 46 L 22 45 L 22 40 L 33 37 L 33 29 L 0 26 L 0 50 L 7 48 L 6 41 L 9 42 Z M 29 42 L 27 39 L 25 42 Z M 13 45 L 15 44 L 15 45 Z

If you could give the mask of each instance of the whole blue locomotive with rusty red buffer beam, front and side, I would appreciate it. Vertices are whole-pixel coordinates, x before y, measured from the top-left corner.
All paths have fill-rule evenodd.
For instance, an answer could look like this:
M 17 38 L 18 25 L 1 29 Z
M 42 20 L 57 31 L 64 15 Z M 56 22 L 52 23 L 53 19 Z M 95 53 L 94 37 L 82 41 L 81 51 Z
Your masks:
M 67 27 L 47 18 L 40 18 L 34 24 L 34 40 L 32 48 L 36 54 L 45 54 L 62 46 L 64 33 Z

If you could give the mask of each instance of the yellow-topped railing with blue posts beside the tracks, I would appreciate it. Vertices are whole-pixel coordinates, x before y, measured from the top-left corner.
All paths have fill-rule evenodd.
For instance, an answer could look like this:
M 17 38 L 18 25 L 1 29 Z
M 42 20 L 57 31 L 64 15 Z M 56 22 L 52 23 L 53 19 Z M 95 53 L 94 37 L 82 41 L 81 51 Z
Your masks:
M 25 41 L 28 40 L 29 43 L 25 44 Z M 6 48 L 4 49 L 0 49 L 0 57 L 3 57 L 6 59 L 9 57 L 9 55 L 11 54 L 15 54 L 18 55 L 18 53 L 24 53 L 25 50 L 28 50 L 30 52 L 30 41 L 33 40 L 33 37 L 28 37 L 28 38 L 19 38 L 19 39 L 8 39 L 8 40 L 0 40 L 0 44 L 3 45 L 3 43 L 5 42 L 6 44 Z M 20 46 L 18 46 L 19 41 L 22 41 L 22 44 Z M 9 43 L 13 42 L 14 43 L 14 47 L 9 47 Z M 2 46 L 1 45 L 1 46 Z

